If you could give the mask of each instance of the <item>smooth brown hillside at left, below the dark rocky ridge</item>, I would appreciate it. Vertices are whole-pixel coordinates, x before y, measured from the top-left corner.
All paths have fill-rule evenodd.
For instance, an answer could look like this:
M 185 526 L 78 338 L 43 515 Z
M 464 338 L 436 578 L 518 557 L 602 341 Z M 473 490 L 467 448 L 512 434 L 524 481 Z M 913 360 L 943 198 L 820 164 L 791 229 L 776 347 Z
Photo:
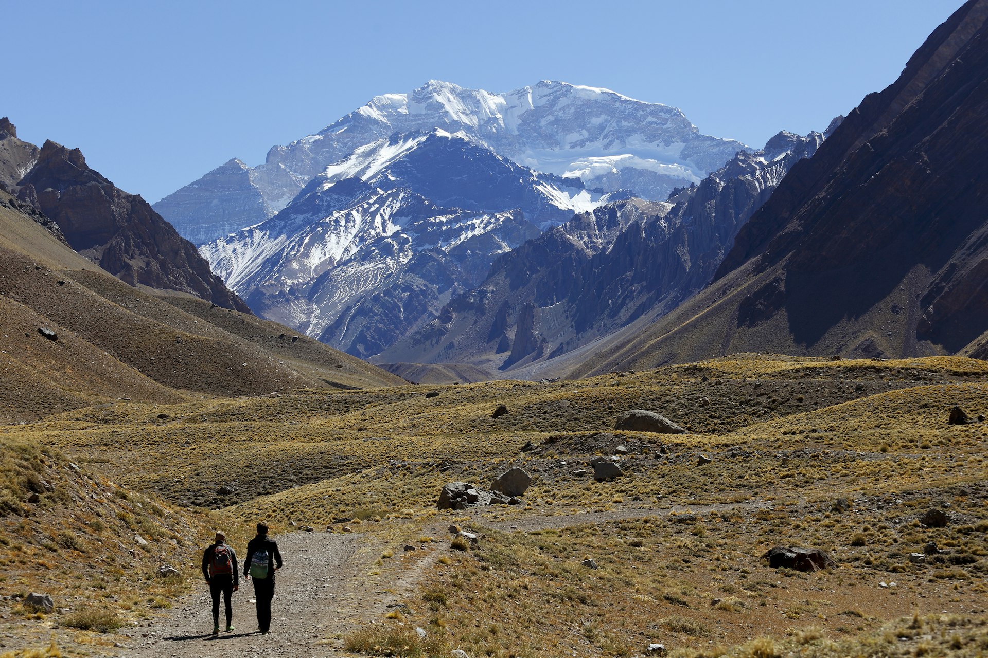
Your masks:
M 87 404 L 129 398 L 180 402 L 180 391 L 264 395 L 327 382 L 343 387 L 400 382 L 384 371 L 308 339 L 269 350 L 134 288 L 69 250 L 0 192 L 0 353 L 2 419 L 20 422 Z M 231 329 L 276 337 L 288 329 L 253 316 L 201 308 Z M 244 323 L 244 324 L 241 324 Z M 51 329 L 57 338 L 39 333 Z M 276 333 L 277 331 L 277 333 Z M 290 337 L 286 341 L 291 343 Z M 291 350 L 297 353 L 291 354 Z M 312 373 L 312 374 L 308 374 Z

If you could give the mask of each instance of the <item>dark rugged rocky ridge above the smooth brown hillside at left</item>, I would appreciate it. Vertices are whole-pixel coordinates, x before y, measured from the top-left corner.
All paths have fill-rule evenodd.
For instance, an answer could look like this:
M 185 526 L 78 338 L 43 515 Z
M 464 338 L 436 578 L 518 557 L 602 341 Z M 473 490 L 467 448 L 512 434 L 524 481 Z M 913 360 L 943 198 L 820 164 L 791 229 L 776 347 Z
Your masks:
M 0 123 L 0 177 L 18 199 L 56 224 L 72 249 L 130 285 L 188 292 L 250 313 L 192 243 L 140 196 L 90 169 L 78 149 L 50 140 L 38 149 L 17 139 L 5 120 Z

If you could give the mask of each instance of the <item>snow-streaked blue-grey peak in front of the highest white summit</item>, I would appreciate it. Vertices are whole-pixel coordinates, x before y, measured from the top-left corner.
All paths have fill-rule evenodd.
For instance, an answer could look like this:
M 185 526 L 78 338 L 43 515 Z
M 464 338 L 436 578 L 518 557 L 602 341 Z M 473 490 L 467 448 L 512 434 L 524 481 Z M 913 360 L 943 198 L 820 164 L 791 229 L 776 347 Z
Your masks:
M 258 313 L 368 357 L 435 319 L 498 254 L 608 198 L 461 134 L 396 134 L 202 252 Z

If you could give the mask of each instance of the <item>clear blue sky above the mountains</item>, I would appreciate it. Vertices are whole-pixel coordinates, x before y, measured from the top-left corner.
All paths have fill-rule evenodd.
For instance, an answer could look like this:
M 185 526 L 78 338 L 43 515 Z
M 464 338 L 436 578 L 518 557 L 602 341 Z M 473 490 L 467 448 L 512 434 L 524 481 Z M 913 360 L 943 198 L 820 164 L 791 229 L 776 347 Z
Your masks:
M 762 146 L 890 84 L 960 0 L 4 2 L 0 115 L 150 201 L 429 79 L 539 80 Z

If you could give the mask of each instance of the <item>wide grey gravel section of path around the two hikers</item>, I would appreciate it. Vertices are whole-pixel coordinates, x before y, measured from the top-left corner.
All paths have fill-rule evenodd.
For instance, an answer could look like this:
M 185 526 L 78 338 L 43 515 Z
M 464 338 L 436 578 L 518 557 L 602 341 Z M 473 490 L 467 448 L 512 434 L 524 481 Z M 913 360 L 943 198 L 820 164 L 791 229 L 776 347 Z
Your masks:
M 124 637 L 123 656 L 219 658 L 220 656 L 328 656 L 335 641 L 359 617 L 365 600 L 358 579 L 356 558 L 359 536 L 327 533 L 279 535 L 278 546 L 285 567 L 278 571 L 272 603 L 271 634 L 257 631 L 254 586 L 243 577 L 233 593 L 233 626 L 230 633 L 211 637 L 212 613 L 205 582 L 175 603 L 164 620 L 134 628 Z M 219 620 L 223 623 L 220 603 Z M 346 620 L 341 623 L 338 620 Z

